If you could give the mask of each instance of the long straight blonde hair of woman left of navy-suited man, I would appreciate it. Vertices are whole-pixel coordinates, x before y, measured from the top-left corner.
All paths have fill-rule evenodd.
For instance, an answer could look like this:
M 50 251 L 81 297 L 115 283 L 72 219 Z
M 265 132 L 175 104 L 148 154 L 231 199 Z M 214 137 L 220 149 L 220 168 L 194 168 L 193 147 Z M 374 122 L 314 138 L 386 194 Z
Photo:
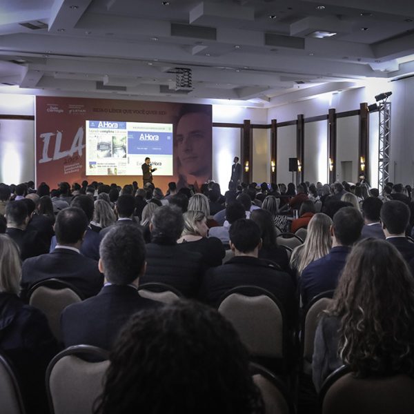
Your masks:
M 331 250 L 331 226 L 331 217 L 324 213 L 315 214 L 309 221 L 304 244 L 295 247 L 290 255 L 290 269 L 295 270 L 298 278 L 308 264 L 326 256 Z

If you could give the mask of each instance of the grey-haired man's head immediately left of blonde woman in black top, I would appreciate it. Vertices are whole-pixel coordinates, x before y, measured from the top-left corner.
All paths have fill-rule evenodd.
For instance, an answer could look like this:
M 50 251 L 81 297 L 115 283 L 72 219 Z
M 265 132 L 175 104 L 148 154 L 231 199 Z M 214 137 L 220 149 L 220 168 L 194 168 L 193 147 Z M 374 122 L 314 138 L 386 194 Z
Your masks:
M 176 206 L 162 206 L 155 210 L 150 224 L 152 242 L 175 244 L 181 237 L 184 219 Z

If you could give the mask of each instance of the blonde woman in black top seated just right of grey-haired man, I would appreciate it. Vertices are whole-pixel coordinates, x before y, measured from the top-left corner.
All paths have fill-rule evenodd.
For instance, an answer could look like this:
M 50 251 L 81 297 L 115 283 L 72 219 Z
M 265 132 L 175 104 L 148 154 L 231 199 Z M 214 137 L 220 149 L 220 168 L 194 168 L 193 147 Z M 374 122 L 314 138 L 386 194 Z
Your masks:
M 177 243 L 182 244 L 190 252 L 200 253 L 206 267 L 219 266 L 226 250 L 217 237 L 207 237 L 206 215 L 202 211 L 188 210 L 183 218 L 184 230 Z

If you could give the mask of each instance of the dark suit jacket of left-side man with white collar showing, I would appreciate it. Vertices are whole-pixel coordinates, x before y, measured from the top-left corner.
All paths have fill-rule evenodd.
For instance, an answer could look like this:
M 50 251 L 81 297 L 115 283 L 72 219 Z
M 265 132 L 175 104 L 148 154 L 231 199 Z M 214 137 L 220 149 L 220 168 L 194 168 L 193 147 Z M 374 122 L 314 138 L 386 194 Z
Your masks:
M 98 262 L 66 248 L 55 248 L 52 253 L 31 257 L 21 268 L 21 293 L 27 300 L 28 290 L 41 280 L 55 277 L 78 288 L 85 297 L 96 295 L 102 287 L 103 275 Z

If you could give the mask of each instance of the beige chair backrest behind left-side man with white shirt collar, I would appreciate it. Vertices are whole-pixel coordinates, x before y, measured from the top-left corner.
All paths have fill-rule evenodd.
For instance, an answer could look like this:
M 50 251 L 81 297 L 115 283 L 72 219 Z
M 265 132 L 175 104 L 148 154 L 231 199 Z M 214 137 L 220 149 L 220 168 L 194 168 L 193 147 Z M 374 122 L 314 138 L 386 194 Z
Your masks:
M 40 309 L 48 319 L 50 330 L 61 341 L 60 316 L 64 308 L 83 299 L 81 293 L 59 279 L 43 280 L 30 288 L 29 304 Z

